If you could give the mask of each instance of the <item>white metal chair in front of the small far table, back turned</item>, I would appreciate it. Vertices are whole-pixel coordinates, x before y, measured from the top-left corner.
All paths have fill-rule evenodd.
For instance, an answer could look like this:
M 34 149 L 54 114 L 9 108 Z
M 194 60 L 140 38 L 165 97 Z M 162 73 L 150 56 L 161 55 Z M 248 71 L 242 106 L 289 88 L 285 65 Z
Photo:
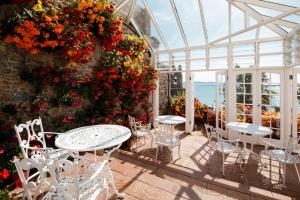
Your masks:
M 181 142 L 179 139 L 181 132 L 176 132 L 174 130 L 173 125 L 167 125 L 167 124 L 157 124 L 155 127 L 155 143 L 157 144 L 156 148 L 156 156 L 155 159 L 157 160 L 158 156 L 158 150 L 159 148 L 165 146 L 171 148 L 171 156 L 172 156 L 172 162 L 173 162 L 173 148 L 178 147 L 178 155 L 179 158 L 181 158 L 180 155 L 180 146 Z

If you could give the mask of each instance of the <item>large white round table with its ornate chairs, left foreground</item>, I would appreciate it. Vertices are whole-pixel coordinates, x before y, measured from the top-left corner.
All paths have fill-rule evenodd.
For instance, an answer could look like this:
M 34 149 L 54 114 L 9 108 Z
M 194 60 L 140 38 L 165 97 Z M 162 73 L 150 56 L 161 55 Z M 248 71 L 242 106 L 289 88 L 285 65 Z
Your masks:
M 55 145 L 59 149 L 47 147 L 46 138 L 53 133 L 43 131 L 40 118 L 15 126 L 15 130 L 24 154 L 23 160 L 14 160 L 24 189 L 23 199 L 39 196 L 40 199 L 86 200 L 96 199 L 101 192 L 107 199 L 109 185 L 117 197 L 125 197 L 116 189 L 108 160 L 130 138 L 128 128 L 108 124 L 56 133 Z M 98 150 L 103 151 L 101 160 L 96 157 Z M 82 155 L 91 151 L 92 159 Z

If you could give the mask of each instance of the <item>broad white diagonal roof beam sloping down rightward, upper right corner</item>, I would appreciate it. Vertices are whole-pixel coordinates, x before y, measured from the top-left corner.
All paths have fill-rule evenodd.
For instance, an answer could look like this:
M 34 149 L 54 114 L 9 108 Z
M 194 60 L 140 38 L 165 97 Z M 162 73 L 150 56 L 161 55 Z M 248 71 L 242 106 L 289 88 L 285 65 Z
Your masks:
M 232 5 L 234 5 L 235 7 L 237 7 L 238 9 L 242 10 L 243 12 L 245 12 L 250 17 L 253 17 L 258 22 L 261 22 L 261 21 L 264 20 L 263 17 L 261 16 L 261 14 L 259 14 L 257 11 L 255 11 L 254 9 L 252 9 L 251 7 L 249 7 L 248 5 L 246 5 L 244 3 L 239 3 L 239 2 L 231 2 L 231 3 L 232 3 Z M 282 38 L 284 38 L 286 36 L 286 34 L 287 34 L 287 32 L 285 30 L 283 30 L 281 27 L 277 26 L 276 24 L 269 23 L 269 24 L 265 24 L 265 26 L 267 26 L 272 31 L 274 31 L 275 33 L 277 33 L 278 35 L 280 35 Z

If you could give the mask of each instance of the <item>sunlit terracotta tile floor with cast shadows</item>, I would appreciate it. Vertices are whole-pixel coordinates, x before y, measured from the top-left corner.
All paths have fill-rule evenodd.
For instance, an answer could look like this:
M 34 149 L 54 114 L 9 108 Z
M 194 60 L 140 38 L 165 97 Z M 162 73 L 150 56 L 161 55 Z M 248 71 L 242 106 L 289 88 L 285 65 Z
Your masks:
M 237 155 L 233 154 L 226 158 L 224 177 L 221 154 L 213 152 L 208 159 L 207 138 L 201 131 L 182 134 L 181 142 L 181 158 L 174 163 L 170 163 L 167 148 L 160 151 L 159 161 L 155 161 L 156 148 L 151 148 L 150 140 L 138 153 L 120 150 L 112 155 L 110 168 L 118 189 L 126 193 L 125 199 L 300 199 L 300 183 L 294 166 L 288 166 L 287 184 L 283 186 L 275 161 L 271 162 L 270 170 L 269 159 L 263 159 L 268 165 L 258 172 L 257 161 L 248 157 L 243 173 L 234 164 Z M 255 147 L 257 152 L 261 149 Z M 174 158 L 177 156 L 175 149 Z

